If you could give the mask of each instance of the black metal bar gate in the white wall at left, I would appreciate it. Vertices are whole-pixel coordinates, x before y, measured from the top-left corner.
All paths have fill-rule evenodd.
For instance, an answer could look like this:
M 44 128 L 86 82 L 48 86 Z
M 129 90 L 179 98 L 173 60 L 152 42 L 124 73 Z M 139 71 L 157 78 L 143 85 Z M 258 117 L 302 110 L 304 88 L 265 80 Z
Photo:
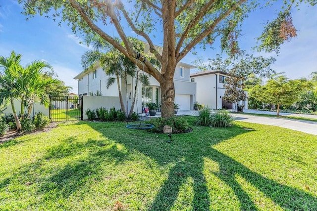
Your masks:
M 83 120 L 83 97 L 50 96 L 52 122 Z

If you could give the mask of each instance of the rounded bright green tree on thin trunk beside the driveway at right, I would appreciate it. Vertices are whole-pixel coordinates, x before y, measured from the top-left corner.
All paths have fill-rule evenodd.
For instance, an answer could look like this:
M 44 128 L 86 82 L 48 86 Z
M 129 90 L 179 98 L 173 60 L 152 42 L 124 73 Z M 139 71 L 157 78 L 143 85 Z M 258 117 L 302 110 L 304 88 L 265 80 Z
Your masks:
M 264 101 L 277 104 L 276 116 L 280 105 L 291 105 L 299 100 L 300 94 L 311 87 L 306 79 L 289 80 L 286 76 L 274 75 L 262 88 Z

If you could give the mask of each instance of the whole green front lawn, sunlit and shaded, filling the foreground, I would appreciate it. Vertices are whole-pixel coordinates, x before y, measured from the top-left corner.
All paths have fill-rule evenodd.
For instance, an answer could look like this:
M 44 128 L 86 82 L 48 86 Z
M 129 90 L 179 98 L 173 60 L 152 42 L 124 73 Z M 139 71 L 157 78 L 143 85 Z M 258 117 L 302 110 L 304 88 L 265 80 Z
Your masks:
M 124 123 L 75 122 L 6 142 L 0 210 L 317 210 L 316 135 L 193 129 L 166 143 Z

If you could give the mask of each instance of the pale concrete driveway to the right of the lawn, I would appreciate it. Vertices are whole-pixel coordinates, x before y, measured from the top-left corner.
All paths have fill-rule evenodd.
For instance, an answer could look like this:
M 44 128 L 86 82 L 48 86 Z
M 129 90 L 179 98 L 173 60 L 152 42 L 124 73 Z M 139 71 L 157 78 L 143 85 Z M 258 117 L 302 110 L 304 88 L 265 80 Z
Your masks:
M 253 110 L 253 111 L 257 111 L 257 110 Z M 246 112 L 244 113 L 252 113 L 252 110 L 246 110 Z M 197 116 L 198 111 L 178 111 L 178 114 Z M 286 116 L 286 115 L 297 115 L 297 114 L 281 113 L 281 115 Z M 277 118 L 277 117 L 261 117 L 261 116 L 252 116 L 252 115 L 239 114 L 239 113 L 232 114 L 232 116 L 237 121 L 241 121 L 241 122 L 284 127 L 288 129 L 298 130 L 298 131 L 317 135 L 317 122 L 313 122 L 313 121 L 292 120 L 292 119 L 283 119 L 283 118 Z M 298 115 L 298 116 L 317 119 L 317 115 L 305 115 L 305 116 Z

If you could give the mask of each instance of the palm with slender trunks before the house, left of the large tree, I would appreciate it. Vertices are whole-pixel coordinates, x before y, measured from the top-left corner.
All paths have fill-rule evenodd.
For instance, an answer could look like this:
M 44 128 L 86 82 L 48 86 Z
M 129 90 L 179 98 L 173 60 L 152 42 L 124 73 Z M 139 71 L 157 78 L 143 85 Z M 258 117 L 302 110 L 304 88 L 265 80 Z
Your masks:
M 142 43 L 136 43 L 136 41 L 133 41 L 132 39 L 131 41 L 137 48 L 140 48 L 142 46 Z M 106 75 L 109 76 L 109 78 L 106 81 L 106 87 L 109 88 L 112 84 L 115 83 L 115 81 L 117 82 L 121 110 L 125 113 L 126 117 L 130 117 L 133 112 L 136 94 L 134 94 L 133 96 L 130 112 L 128 112 L 128 110 L 125 108 L 122 98 L 120 79 L 124 80 L 126 87 L 125 91 L 127 93 L 128 76 L 136 78 L 137 82 L 141 82 L 144 85 L 149 84 L 148 76 L 145 74 L 141 74 L 137 66 L 132 61 L 126 58 L 116 48 L 114 48 L 112 45 L 110 45 L 108 42 L 103 40 L 98 35 L 87 36 L 86 42 L 87 44 L 92 44 L 94 49 L 86 51 L 85 54 L 82 56 L 83 68 L 93 69 L 93 65 L 96 64 L 96 62 L 100 62 L 102 69 L 105 71 Z M 128 96 L 126 96 L 126 106 L 128 106 Z

